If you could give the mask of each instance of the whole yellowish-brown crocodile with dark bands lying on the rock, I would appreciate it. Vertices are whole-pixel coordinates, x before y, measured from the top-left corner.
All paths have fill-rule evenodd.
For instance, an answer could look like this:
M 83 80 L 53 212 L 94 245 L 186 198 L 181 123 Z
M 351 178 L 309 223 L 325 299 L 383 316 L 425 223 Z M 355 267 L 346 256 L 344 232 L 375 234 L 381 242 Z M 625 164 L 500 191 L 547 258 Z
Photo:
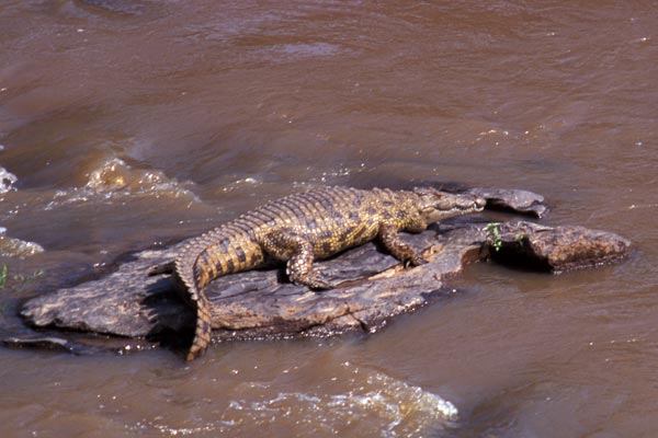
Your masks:
M 481 211 L 486 200 L 475 194 L 450 194 L 433 187 L 316 187 L 272 200 L 188 242 L 175 261 L 150 274 L 173 274 L 177 289 L 196 311 L 194 339 L 186 359 L 202 356 L 211 343 L 211 304 L 204 288 L 223 275 L 286 262 L 296 285 L 322 290 L 334 285 L 313 269 L 316 260 L 377 239 L 407 266 L 427 263 L 399 237 L 421 232 L 430 223 Z

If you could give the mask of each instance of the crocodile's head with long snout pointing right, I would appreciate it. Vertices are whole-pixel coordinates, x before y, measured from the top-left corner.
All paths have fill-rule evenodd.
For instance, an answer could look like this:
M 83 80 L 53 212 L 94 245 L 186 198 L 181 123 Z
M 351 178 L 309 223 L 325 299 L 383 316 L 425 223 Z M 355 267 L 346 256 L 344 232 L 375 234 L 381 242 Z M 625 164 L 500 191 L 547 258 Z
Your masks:
M 447 193 L 432 187 L 413 187 L 413 193 L 420 199 L 418 209 L 427 223 L 481 211 L 487 204 L 485 198 L 472 193 Z

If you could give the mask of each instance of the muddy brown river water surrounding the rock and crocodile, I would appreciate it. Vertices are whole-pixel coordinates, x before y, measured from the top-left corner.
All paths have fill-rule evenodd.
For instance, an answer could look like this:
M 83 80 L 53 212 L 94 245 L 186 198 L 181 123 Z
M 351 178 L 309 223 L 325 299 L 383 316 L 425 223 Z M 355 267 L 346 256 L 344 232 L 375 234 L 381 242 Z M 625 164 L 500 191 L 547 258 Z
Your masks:
M 658 437 L 657 1 L 3 0 L 0 145 L 3 333 L 317 184 L 526 188 L 635 245 L 470 265 L 367 336 L 1 348 L 1 437 Z

